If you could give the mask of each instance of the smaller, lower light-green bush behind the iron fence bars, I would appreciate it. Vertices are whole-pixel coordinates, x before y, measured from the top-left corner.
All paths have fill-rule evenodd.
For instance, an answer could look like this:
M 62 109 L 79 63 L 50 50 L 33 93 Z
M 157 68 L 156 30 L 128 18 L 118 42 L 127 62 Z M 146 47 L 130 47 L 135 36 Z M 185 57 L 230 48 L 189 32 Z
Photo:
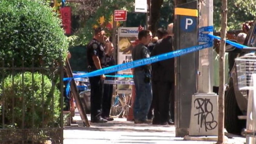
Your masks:
M 22 74 L 19 73 L 14 76 L 14 85 L 12 85 L 12 76 L 9 75 L 4 81 L 4 91 L 0 89 L 0 103 L 5 104 L 5 124 L 15 128 L 22 127 L 22 95 L 24 94 L 24 111 L 25 111 L 25 128 L 32 128 L 33 120 L 33 99 L 34 99 L 34 128 L 51 126 L 51 124 L 59 123 L 60 116 L 60 91 L 56 86 L 52 85 L 52 81 L 42 74 L 34 73 L 34 90 L 32 91 L 32 73 L 25 72 L 24 89 L 22 91 Z M 44 80 L 44 85 L 42 84 Z M 14 88 L 14 90 L 13 90 Z M 4 94 L 4 96 L 3 96 Z M 34 96 L 33 96 L 34 95 Z M 44 96 L 42 105 L 42 99 Z M 52 109 L 53 97 L 53 109 Z M 14 98 L 14 126 L 12 125 L 12 100 Z M 3 107 L 3 106 L 2 106 Z M 3 109 L 2 109 L 3 110 Z M 0 114 L 0 121 L 2 122 L 2 110 Z M 44 111 L 44 112 L 43 112 Z M 44 121 L 43 121 L 44 115 Z M 2 123 L 1 123 L 2 124 Z

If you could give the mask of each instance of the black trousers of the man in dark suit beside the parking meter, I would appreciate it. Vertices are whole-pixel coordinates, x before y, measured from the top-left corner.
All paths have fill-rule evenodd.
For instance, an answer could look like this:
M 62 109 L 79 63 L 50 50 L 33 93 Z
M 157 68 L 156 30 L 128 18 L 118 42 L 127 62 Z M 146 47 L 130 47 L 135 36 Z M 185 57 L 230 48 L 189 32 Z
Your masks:
M 155 81 L 154 88 L 154 123 L 165 123 L 170 118 L 170 95 L 172 82 Z

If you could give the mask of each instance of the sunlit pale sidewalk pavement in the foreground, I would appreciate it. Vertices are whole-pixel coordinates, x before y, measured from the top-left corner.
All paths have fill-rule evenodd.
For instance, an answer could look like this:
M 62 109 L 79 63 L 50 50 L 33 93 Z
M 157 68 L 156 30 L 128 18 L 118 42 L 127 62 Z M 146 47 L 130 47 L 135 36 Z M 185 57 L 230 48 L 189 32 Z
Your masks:
M 78 126 L 67 126 L 64 130 L 64 144 L 213 144 L 215 141 L 184 141 L 175 137 L 175 127 L 155 126 L 152 124 L 134 124 L 127 122 L 126 118 L 114 118 L 108 123 L 91 123 L 91 127 L 83 127 L 81 117 L 76 111 L 75 117 Z M 90 120 L 90 115 L 88 115 Z M 228 143 L 243 144 L 245 138 L 235 136 Z

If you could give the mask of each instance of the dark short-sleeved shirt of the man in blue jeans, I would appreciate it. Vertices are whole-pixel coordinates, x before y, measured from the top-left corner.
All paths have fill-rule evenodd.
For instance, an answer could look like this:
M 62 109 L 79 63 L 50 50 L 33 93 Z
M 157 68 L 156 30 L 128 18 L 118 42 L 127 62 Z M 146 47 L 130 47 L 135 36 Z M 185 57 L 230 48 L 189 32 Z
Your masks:
M 148 48 L 142 43 L 140 43 L 132 49 L 132 60 L 135 61 L 135 60 L 140 60 L 144 58 L 149 58 L 149 54 L 150 52 Z M 150 72 L 150 66 L 144 65 L 144 66 L 134 68 L 134 71 L 141 71 L 141 70 Z

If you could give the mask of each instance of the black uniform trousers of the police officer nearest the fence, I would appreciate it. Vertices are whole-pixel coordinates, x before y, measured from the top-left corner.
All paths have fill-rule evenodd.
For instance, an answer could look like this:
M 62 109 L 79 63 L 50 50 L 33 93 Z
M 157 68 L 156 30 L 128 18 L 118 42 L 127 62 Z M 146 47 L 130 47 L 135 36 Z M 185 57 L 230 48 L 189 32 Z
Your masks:
M 89 77 L 91 84 L 91 120 L 101 117 L 101 104 L 103 96 L 103 81 L 100 76 Z

